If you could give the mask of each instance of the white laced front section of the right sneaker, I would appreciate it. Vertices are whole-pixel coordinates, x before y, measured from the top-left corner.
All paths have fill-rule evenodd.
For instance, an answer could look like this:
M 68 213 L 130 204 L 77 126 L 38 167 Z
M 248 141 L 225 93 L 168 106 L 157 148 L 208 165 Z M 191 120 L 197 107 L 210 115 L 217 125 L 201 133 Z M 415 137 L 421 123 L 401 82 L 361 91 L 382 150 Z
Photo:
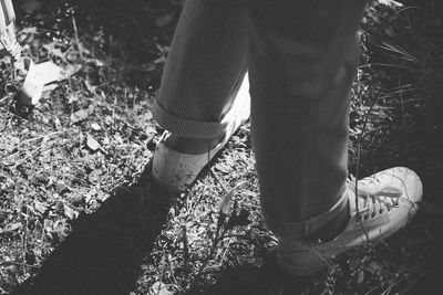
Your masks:
M 350 176 L 348 186 L 356 194 L 357 221 L 377 218 L 399 207 L 399 200 L 403 193 L 399 188 L 383 185 L 378 178 L 357 180 Z M 360 208 L 361 204 L 362 208 Z

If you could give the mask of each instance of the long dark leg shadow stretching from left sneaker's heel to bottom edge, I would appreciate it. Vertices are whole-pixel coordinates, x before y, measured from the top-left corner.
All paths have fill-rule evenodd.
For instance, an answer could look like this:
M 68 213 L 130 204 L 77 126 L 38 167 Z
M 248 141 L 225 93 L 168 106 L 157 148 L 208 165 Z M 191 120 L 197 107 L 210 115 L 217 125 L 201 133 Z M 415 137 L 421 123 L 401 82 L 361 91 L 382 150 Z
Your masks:
M 168 200 L 148 165 L 137 185 L 115 189 L 96 212 L 80 217 L 39 274 L 12 294 L 127 294 L 166 221 Z

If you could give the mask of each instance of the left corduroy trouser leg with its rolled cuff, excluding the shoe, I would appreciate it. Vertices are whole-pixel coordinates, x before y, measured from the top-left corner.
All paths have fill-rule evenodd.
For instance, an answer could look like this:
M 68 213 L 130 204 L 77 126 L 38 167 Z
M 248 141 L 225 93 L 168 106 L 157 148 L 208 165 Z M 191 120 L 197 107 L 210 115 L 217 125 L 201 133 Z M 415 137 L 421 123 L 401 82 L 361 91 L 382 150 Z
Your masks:
M 244 1 L 186 1 L 152 110 L 156 122 L 182 138 L 223 136 L 246 54 Z

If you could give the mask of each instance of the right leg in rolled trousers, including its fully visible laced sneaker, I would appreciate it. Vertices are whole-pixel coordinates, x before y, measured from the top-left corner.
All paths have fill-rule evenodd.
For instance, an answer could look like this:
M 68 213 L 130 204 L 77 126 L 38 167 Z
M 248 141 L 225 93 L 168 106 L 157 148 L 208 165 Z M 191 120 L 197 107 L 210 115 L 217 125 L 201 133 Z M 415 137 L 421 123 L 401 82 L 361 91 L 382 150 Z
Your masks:
M 363 0 L 250 0 L 251 125 L 277 263 L 295 275 L 379 242 L 419 209 L 423 187 L 396 167 L 347 181 L 349 89 Z M 320 241 L 319 241 L 320 240 Z

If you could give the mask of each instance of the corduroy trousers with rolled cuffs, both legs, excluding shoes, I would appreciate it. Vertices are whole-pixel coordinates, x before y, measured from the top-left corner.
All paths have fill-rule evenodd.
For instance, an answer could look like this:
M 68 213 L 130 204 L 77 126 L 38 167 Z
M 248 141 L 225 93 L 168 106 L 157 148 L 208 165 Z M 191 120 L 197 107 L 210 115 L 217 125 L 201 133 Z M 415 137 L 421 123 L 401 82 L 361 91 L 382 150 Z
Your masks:
M 265 219 L 309 234 L 344 210 L 350 87 L 364 0 L 187 0 L 152 113 L 215 138 L 247 74 Z

